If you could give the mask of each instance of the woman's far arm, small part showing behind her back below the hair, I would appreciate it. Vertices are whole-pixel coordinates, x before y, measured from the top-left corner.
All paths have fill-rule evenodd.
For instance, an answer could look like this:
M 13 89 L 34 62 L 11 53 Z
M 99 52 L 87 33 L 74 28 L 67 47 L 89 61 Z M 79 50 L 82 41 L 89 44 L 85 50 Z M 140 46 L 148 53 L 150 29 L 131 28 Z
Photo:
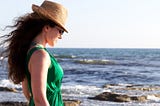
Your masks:
M 22 82 L 22 90 L 23 90 L 23 94 L 24 96 L 27 98 L 27 100 L 30 100 L 30 92 L 28 90 L 28 81 L 27 78 L 25 78 Z

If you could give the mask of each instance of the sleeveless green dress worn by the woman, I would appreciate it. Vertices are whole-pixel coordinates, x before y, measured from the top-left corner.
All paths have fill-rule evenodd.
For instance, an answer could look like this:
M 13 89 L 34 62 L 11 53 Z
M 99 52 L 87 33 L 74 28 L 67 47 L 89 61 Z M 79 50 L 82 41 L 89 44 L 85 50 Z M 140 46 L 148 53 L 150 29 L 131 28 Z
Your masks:
M 44 49 L 47 53 L 49 53 L 46 48 L 43 48 L 41 46 L 36 46 L 28 52 L 27 59 L 26 59 L 26 76 L 28 79 L 28 87 L 31 95 L 32 95 L 32 89 L 31 89 L 32 86 L 31 86 L 31 76 L 28 70 L 28 62 L 33 52 L 39 49 Z M 47 99 L 50 106 L 64 106 L 62 96 L 61 96 L 61 90 L 60 90 L 62 78 L 63 78 L 63 69 L 50 53 L 49 55 L 50 55 L 51 65 L 48 69 L 48 75 L 47 75 L 47 86 L 46 86 Z M 31 96 L 30 98 L 29 106 L 35 106 L 33 96 Z

